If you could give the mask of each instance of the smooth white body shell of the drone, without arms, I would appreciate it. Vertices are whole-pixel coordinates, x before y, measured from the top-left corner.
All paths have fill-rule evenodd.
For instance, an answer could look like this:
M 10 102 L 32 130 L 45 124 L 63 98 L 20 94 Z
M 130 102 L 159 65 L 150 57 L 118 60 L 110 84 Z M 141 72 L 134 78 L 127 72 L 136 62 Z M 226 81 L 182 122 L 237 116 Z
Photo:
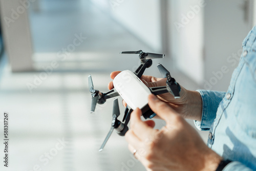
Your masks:
M 114 87 L 130 108 L 143 109 L 147 106 L 150 89 L 132 71 L 125 70 L 113 80 Z

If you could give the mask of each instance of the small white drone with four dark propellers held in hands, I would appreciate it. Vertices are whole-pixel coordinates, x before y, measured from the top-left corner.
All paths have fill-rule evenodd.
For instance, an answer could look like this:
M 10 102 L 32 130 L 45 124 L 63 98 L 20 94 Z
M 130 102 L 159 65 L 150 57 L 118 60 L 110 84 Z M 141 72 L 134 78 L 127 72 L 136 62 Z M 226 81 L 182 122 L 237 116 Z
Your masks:
M 135 72 L 132 72 L 130 70 L 124 70 L 120 72 L 113 80 L 114 88 L 112 90 L 106 93 L 101 93 L 99 90 L 95 90 L 93 86 L 92 76 L 89 75 L 88 77 L 89 90 L 92 94 L 91 113 L 94 113 L 97 103 L 103 104 L 106 102 L 107 99 L 113 97 L 121 96 L 127 104 L 124 111 L 123 119 L 122 121 L 120 121 L 117 119 L 120 115 L 118 99 L 114 99 L 111 129 L 99 149 L 100 152 L 103 150 L 114 129 L 117 131 L 118 135 L 125 135 L 125 133 L 129 130 L 127 124 L 130 121 L 131 113 L 136 108 L 139 108 L 142 111 L 142 116 L 145 119 L 151 119 L 156 116 L 156 114 L 150 109 L 150 106 L 148 105 L 148 95 L 170 93 L 174 96 L 174 98 L 180 98 L 181 88 L 179 83 L 170 76 L 169 71 L 166 70 L 161 65 L 161 63 L 157 65 L 157 68 L 160 71 L 161 75 L 164 78 L 167 78 L 166 86 L 147 87 L 140 79 L 145 69 L 152 66 L 152 59 L 163 58 L 165 55 L 156 53 L 145 53 L 142 50 L 126 51 L 121 52 L 120 54 L 139 54 L 141 65 Z

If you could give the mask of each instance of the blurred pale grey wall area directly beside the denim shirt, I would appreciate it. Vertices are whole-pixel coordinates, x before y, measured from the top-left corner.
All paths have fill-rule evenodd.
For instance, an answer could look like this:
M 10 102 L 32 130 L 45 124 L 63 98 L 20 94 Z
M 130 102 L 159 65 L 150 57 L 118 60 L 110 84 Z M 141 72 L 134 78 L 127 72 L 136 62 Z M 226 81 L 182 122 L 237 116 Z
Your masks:
M 207 2 L 204 14 L 204 89 L 228 89 L 232 72 L 240 60 L 242 41 L 252 28 L 252 9 L 247 3 L 249 1 L 241 0 Z

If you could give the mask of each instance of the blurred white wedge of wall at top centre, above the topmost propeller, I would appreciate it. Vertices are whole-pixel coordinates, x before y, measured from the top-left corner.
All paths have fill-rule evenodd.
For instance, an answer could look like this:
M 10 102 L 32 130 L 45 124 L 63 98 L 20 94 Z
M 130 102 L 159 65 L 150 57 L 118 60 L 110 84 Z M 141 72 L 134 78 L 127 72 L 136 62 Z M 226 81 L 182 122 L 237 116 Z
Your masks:
M 156 0 L 116 1 L 111 12 L 122 25 L 155 52 L 161 52 L 160 2 Z

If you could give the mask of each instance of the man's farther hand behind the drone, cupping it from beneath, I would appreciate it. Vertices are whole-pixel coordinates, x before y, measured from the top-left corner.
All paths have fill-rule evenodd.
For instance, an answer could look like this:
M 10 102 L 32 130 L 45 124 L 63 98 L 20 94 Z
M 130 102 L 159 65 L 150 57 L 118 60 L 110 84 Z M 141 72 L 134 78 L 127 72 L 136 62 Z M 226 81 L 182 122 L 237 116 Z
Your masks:
M 114 79 L 121 71 L 115 71 L 110 74 L 110 77 Z M 147 87 L 160 87 L 166 86 L 166 78 L 156 78 L 153 76 L 142 75 L 141 80 Z M 114 88 L 111 81 L 108 85 L 109 90 Z M 175 99 L 170 93 L 164 93 L 157 96 L 160 100 L 164 101 L 167 105 L 171 106 L 182 117 L 187 119 L 201 120 L 202 116 L 202 99 L 198 92 L 189 91 L 181 86 L 180 98 Z M 125 101 L 123 105 L 126 106 Z M 159 118 L 156 116 L 155 118 Z

